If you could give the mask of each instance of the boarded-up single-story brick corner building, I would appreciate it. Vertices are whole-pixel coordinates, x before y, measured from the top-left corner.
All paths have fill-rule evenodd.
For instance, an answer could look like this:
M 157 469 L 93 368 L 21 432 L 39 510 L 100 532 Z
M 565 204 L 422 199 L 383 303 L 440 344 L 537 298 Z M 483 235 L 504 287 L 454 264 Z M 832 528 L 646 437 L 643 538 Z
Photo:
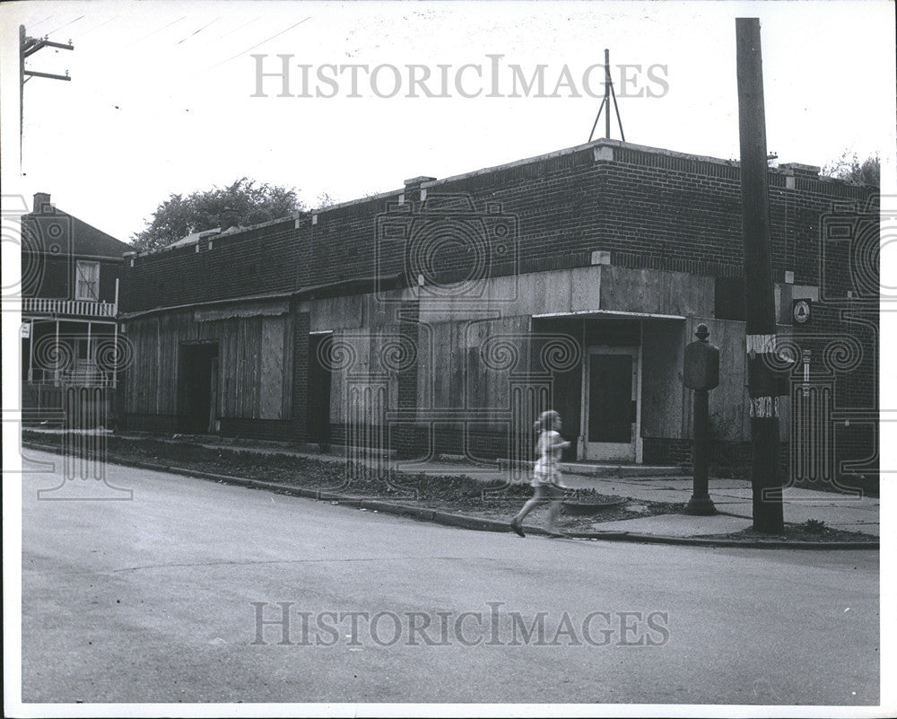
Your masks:
M 875 476 L 878 190 L 799 164 L 769 186 L 792 476 Z M 606 139 L 197 236 L 126 259 L 126 423 L 492 460 L 553 406 L 570 459 L 686 462 L 703 322 L 737 456 L 742 244 L 737 162 Z

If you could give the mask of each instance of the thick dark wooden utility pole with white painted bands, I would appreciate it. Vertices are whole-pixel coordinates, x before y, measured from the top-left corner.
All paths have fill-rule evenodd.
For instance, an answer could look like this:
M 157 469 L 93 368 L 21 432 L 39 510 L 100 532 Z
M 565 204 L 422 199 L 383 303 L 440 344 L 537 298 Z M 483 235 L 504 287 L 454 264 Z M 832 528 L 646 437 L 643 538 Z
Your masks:
M 766 117 L 759 18 L 736 18 L 742 231 L 745 238 L 745 348 L 751 399 L 753 529 L 784 529 L 779 477 L 777 382 L 766 357 L 776 351 L 772 289 Z

